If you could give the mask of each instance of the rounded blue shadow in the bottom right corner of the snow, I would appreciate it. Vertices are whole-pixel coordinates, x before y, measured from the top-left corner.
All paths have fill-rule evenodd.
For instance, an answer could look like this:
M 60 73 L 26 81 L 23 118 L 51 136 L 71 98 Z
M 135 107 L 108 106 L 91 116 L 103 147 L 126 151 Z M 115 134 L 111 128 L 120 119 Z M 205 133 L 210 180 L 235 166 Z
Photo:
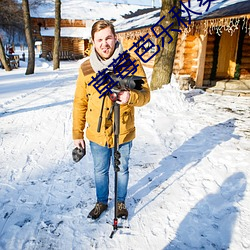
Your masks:
M 164 250 L 229 249 L 238 208 L 247 180 L 242 172 L 228 177 L 217 193 L 206 196 L 181 222 L 176 237 Z

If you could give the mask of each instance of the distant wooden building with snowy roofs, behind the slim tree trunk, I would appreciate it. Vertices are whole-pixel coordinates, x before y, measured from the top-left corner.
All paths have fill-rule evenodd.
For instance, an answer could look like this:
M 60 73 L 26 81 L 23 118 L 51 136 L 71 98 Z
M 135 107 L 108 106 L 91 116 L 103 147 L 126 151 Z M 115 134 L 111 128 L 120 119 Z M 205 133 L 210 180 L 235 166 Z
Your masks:
M 121 15 L 145 6 L 107 2 L 62 0 L 60 59 L 80 59 L 89 55 L 91 26 L 99 19 L 115 21 Z M 52 59 L 55 6 L 52 2 L 31 10 L 34 40 L 41 42 L 41 57 Z

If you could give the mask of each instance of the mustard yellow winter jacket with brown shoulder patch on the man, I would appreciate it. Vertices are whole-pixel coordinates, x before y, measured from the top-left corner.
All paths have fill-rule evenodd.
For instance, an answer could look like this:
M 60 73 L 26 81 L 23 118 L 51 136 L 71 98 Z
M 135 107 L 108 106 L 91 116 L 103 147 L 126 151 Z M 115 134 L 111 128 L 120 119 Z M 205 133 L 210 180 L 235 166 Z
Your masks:
M 142 90 L 130 90 L 130 99 L 128 104 L 120 105 L 119 144 L 129 142 L 135 138 L 134 107 L 143 106 L 150 100 L 150 89 L 145 72 L 140 61 L 138 59 L 136 60 L 136 64 L 139 64 L 139 67 L 137 68 L 135 75 L 144 77 L 144 84 L 142 85 Z M 87 123 L 86 137 L 88 140 L 101 146 L 107 145 L 111 148 L 114 147 L 114 112 L 111 120 L 107 117 L 112 106 L 112 101 L 108 96 L 105 98 L 101 129 L 98 133 L 97 126 L 103 97 L 99 98 L 100 93 L 98 93 L 92 85 L 88 85 L 92 81 L 92 77 L 96 77 L 96 73 L 91 67 L 90 61 L 86 60 L 82 63 L 79 69 L 79 75 L 76 83 L 73 102 L 73 140 L 84 138 L 84 129 Z

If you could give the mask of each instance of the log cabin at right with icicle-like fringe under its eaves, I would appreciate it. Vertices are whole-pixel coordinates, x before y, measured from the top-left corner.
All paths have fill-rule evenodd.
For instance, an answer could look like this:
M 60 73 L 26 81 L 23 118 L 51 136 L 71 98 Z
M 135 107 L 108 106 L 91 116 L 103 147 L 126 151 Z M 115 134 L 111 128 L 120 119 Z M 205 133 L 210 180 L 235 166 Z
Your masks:
M 250 91 L 250 1 L 215 1 L 207 11 L 208 6 L 199 6 L 201 1 L 190 4 L 194 5 L 190 6 L 193 12 L 202 15 L 191 13 L 188 21 L 183 15 L 187 27 L 181 24 L 178 33 L 173 67 L 177 79 L 187 77 L 196 87 L 205 89 L 230 81 L 234 88 Z M 159 19 L 160 8 L 154 8 L 115 22 L 124 48 L 131 48 L 146 34 L 156 44 L 151 28 Z M 144 55 L 151 58 L 145 66 L 153 67 L 154 53 L 152 49 Z

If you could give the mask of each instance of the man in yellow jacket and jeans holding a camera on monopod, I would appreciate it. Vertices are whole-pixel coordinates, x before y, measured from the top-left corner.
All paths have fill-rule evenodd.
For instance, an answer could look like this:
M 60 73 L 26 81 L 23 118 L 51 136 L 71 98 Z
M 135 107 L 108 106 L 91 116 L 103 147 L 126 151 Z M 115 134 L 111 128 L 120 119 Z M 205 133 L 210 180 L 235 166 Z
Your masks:
M 121 57 L 123 48 L 117 40 L 114 26 L 109 21 L 100 20 L 94 23 L 91 30 L 93 50 L 90 59 L 82 63 L 76 84 L 73 103 L 73 140 L 76 147 L 85 147 L 83 130 L 87 122 L 86 137 L 90 141 L 91 153 L 94 161 L 94 175 L 97 202 L 90 211 L 88 218 L 97 219 L 108 208 L 109 168 L 113 160 L 114 134 L 112 101 L 110 98 L 100 98 L 100 93 L 90 83 L 102 70 L 113 71 L 110 66 L 115 59 Z M 130 59 L 133 59 L 129 55 Z M 127 58 L 128 59 L 128 58 Z M 135 60 L 135 59 L 133 59 Z M 121 154 L 118 172 L 117 217 L 128 216 L 125 198 L 128 186 L 128 161 L 132 140 L 135 138 L 134 107 L 143 106 L 150 100 L 150 90 L 145 72 L 139 62 L 135 75 L 142 76 L 141 90 L 122 90 L 118 93 L 117 103 L 120 104 L 120 134 L 119 152 Z M 97 132 L 100 111 L 104 102 L 103 114 L 105 118 Z M 108 117 L 111 116 L 111 119 Z

